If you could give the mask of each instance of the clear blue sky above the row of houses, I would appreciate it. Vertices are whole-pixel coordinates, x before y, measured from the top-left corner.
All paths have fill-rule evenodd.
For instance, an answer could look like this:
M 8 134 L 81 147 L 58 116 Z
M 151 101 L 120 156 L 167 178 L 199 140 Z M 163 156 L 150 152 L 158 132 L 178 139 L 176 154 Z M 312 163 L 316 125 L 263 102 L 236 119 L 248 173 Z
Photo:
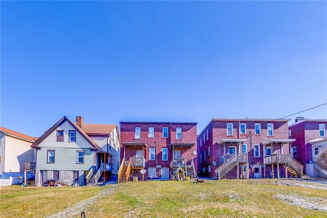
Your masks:
M 64 115 L 199 133 L 327 102 L 326 1 L 0 4 L 0 124 L 33 137 Z M 296 116 L 327 119 L 327 105 Z

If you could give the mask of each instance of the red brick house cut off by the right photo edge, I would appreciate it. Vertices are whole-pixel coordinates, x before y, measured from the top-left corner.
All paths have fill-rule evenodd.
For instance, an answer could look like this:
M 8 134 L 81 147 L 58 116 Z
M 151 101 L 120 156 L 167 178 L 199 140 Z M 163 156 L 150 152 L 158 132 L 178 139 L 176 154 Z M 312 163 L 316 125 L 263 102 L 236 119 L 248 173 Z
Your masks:
M 315 163 L 323 149 L 327 149 L 327 119 L 305 119 L 298 117 L 289 126 L 289 136 L 296 139 L 292 142 L 292 154 L 301 164 L 306 165 L 305 172 L 309 177 L 327 177 Z

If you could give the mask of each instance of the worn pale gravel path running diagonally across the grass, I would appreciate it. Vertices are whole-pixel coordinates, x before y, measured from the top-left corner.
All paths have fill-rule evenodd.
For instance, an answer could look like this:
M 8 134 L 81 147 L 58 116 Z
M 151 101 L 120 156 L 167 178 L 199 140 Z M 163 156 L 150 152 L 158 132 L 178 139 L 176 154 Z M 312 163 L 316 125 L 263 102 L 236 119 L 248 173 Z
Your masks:
M 116 185 L 117 184 L 110 185 L 110 186 L 116 186 Z M 84 200 L 82 202 L 79 202 L 79 203 L 73 205 L 72 207 L 68 207 L 67 209 L 65 209 L 63 211 L 61 211 L 59 213 L 56 213 L 56 214 L 53 214 L 53 215 L 48 216 L 48 217 L 49 218 L 64 218 L 64 217 L 73 217 L 73 216 L 75 216 L 77 214 L 81 214 L 81 212 L 85 209 L 85 207 L 87 205 L 93 204 L 98 199 L 103 198 L 106 195 L 111 194 L 113 190 L 114 190 L 114 187 L 107 188 L 104 191 L 101 191 L 100 193 L 92 196 L 89 199 L 86 199 L 86 200 Z

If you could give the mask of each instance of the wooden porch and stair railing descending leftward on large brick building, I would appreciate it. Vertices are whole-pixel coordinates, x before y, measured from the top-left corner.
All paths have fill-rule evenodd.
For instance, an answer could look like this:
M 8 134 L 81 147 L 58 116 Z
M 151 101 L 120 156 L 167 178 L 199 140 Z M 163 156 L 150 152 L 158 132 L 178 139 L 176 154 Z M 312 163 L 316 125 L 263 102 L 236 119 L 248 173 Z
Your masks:
M 221 165 L 215 170 L 218 179 L 223 178 L 232 168 L 239 163 L 248 163 L 247 153 L 238 153 L 236 155 L 225 154 L 220 157 Z

